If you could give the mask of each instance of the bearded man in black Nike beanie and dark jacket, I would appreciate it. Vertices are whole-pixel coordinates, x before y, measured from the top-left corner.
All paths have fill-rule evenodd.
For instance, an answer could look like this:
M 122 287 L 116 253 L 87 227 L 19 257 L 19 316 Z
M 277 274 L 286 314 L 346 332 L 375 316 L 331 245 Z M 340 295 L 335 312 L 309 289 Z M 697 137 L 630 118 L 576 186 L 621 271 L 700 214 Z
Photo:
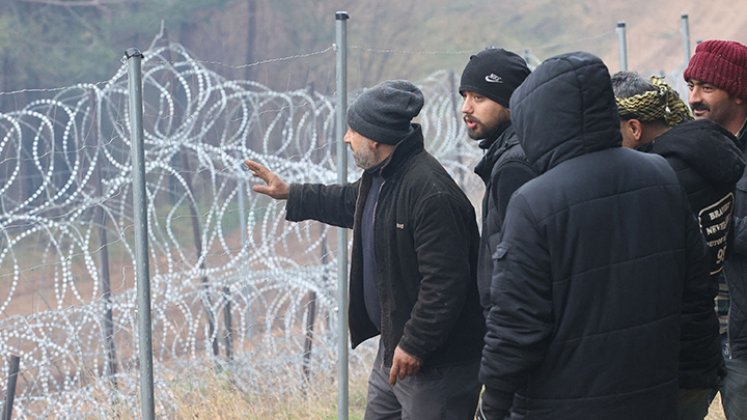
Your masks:
M 528 75 L 529 68 L 518 55 L 502 48 L 487 48 L 469 58 L 459 83 L 467 134 L 473 140 L 481 140 L 480 148 L 485 150 L 475 173 L 485 182 L 477 284 L 486 313 L 490 309 L 492 256 L 500 240 L 508 200 L 517 188 L 537 175 L 511 127 L 508 107 L 511 94 Z

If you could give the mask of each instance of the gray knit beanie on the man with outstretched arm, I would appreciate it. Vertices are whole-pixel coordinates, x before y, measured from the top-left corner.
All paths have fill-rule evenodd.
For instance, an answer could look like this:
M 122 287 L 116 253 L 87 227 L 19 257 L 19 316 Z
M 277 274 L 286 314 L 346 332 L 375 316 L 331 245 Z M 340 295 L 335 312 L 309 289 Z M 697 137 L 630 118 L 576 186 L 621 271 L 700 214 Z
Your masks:
M 407 80 L 387 80 L 366 89 L 348 109 L 348 125 L 379 143 L 397 144 L 413 132 L 410 121 L 423 107 L 423 92 Z

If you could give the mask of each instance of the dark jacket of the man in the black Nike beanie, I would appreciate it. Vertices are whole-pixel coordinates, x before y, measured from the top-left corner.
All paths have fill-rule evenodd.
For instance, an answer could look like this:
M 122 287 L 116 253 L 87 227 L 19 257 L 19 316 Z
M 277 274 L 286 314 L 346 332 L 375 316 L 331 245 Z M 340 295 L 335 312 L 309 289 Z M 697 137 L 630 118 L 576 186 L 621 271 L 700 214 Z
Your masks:
M 485 139 L 480 147 L 487 149 L 475 167 L 475 173 L 485 182 L 482 200 L 482 235 L 477 257 L 477 284 L 480 304 L 490 309 L 490 281 L 493 277 L 493 253 L 501 238 L 501 225 L 511 195 L 520 186 L 537 176 L 524 156 L 516 131 L 509 125 L 497 138 Z

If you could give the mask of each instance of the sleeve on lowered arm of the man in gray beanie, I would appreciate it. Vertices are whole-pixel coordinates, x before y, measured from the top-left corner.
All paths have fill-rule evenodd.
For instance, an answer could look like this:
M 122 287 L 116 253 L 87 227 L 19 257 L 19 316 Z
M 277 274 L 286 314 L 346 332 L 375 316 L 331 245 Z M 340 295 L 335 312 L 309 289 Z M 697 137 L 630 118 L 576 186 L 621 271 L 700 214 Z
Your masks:
M 474 287 L 474 209 L 460 197 L 434 194 L 417 209 L 412 236 L 421 281 L 399 346 L 423 360 L 449 337 Z

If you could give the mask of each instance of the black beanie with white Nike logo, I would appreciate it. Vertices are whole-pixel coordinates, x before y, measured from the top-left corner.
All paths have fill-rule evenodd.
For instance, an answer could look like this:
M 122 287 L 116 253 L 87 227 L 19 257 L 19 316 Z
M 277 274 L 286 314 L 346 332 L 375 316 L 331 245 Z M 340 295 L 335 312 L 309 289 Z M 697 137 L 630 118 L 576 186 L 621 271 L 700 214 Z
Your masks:
M 523 58 L 503 48 L 487 48 L 471 56 L 462 72 L 459 93 L 475 92 L 508 108 L 508 100 L 529 76 Z

